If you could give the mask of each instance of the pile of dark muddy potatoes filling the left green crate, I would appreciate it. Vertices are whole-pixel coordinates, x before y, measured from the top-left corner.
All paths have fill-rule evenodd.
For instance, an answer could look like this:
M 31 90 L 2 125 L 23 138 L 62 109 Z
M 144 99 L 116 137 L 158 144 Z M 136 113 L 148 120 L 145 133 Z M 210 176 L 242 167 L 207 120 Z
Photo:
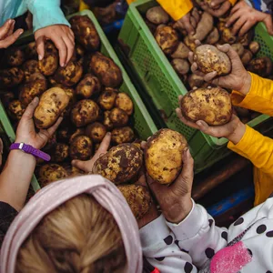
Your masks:
M 136 139 L 132 124 L 134 104 L 118 90 L 122 73 L 114 61 L 99 52 L 100 38 L 87 16 L 70 19 L 76 51 L 66 67 L 58 65 L 56 46 L 45 43 L 45 58 L 38 61 L 35 42 L 7 49 L 0 70 L 1 98 L 16 127 L 25 107 L 40 97 L 35 126 L 46 129 L 59 116 L 64 119 L 44 147 L 52 159 L 39 162 L 36 175 L 41 186 L 80 173 L 70 163 L 94 155 L 106 132 L 112 146 Z

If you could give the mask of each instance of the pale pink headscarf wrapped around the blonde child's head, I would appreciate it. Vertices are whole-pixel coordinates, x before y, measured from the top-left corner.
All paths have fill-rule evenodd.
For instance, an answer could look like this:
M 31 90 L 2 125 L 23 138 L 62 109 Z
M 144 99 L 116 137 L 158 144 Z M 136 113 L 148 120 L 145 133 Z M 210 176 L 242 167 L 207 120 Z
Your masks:
M 30 199 L 5 235 L 0 272 L 14 273 L 18 250 L 45 215 L 83 193 L 95 197 L 115 218 L 126 250 L 126 272 L 142 272 L 142 250 L 136 219 L 116 186 L 104 177 L 95 175 L 58 181 L 44 187 Z

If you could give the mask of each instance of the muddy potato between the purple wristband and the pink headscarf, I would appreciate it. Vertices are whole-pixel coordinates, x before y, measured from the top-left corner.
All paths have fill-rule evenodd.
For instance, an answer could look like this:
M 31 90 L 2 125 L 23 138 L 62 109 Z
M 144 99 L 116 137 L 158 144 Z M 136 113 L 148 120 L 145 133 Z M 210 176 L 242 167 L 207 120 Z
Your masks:
M 66 169 L 58 164 L 45 164 L 39 168 L 38 172 L 39 182 L 45 183 L 55 182 L 67 177 Z

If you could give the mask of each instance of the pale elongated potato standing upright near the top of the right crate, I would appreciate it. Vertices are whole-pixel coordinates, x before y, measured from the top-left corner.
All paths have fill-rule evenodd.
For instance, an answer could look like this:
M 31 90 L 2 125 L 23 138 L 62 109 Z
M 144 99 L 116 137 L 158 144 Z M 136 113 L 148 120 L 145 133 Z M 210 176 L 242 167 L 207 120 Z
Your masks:
M 189 35 L 189 39 L 192 41 L 203 41 L 212 30 L 213 17 L 207 12 L 204 12 L 197 24 L 196 33 L 194 35 Z

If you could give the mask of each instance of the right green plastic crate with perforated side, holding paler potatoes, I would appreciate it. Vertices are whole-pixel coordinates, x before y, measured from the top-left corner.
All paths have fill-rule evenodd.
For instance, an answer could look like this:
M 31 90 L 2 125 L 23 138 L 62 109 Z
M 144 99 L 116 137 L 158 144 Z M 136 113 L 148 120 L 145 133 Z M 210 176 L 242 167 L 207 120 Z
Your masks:
M 185 95 L 187 88 L 157 45 L 143 19 L 147 9 L 155 5 L 158 5 L 155 0 L 138 0 L 129 6 L 118 36 L 118 50 L 125 56 L 128 69 L 152 98 L 152 103 L 165 116 L 167 127 L 187 137 L 192 156 L 195 158 L 195 172 L 198 173 L 227 157 L 231 152 L 227 149 L 227 138 L 207 136 L 185 126 L 177 118 L 177 96 Z M 273 59 L 273 37 L 268 35 L 262 24 L 256 27 L 255 34 L 255 39 L 261 45 L 259 54 Z M 262 115 L 251 120 L 248 126 L 266 133 L 273 128 L 273 122 L 269 116 Z

